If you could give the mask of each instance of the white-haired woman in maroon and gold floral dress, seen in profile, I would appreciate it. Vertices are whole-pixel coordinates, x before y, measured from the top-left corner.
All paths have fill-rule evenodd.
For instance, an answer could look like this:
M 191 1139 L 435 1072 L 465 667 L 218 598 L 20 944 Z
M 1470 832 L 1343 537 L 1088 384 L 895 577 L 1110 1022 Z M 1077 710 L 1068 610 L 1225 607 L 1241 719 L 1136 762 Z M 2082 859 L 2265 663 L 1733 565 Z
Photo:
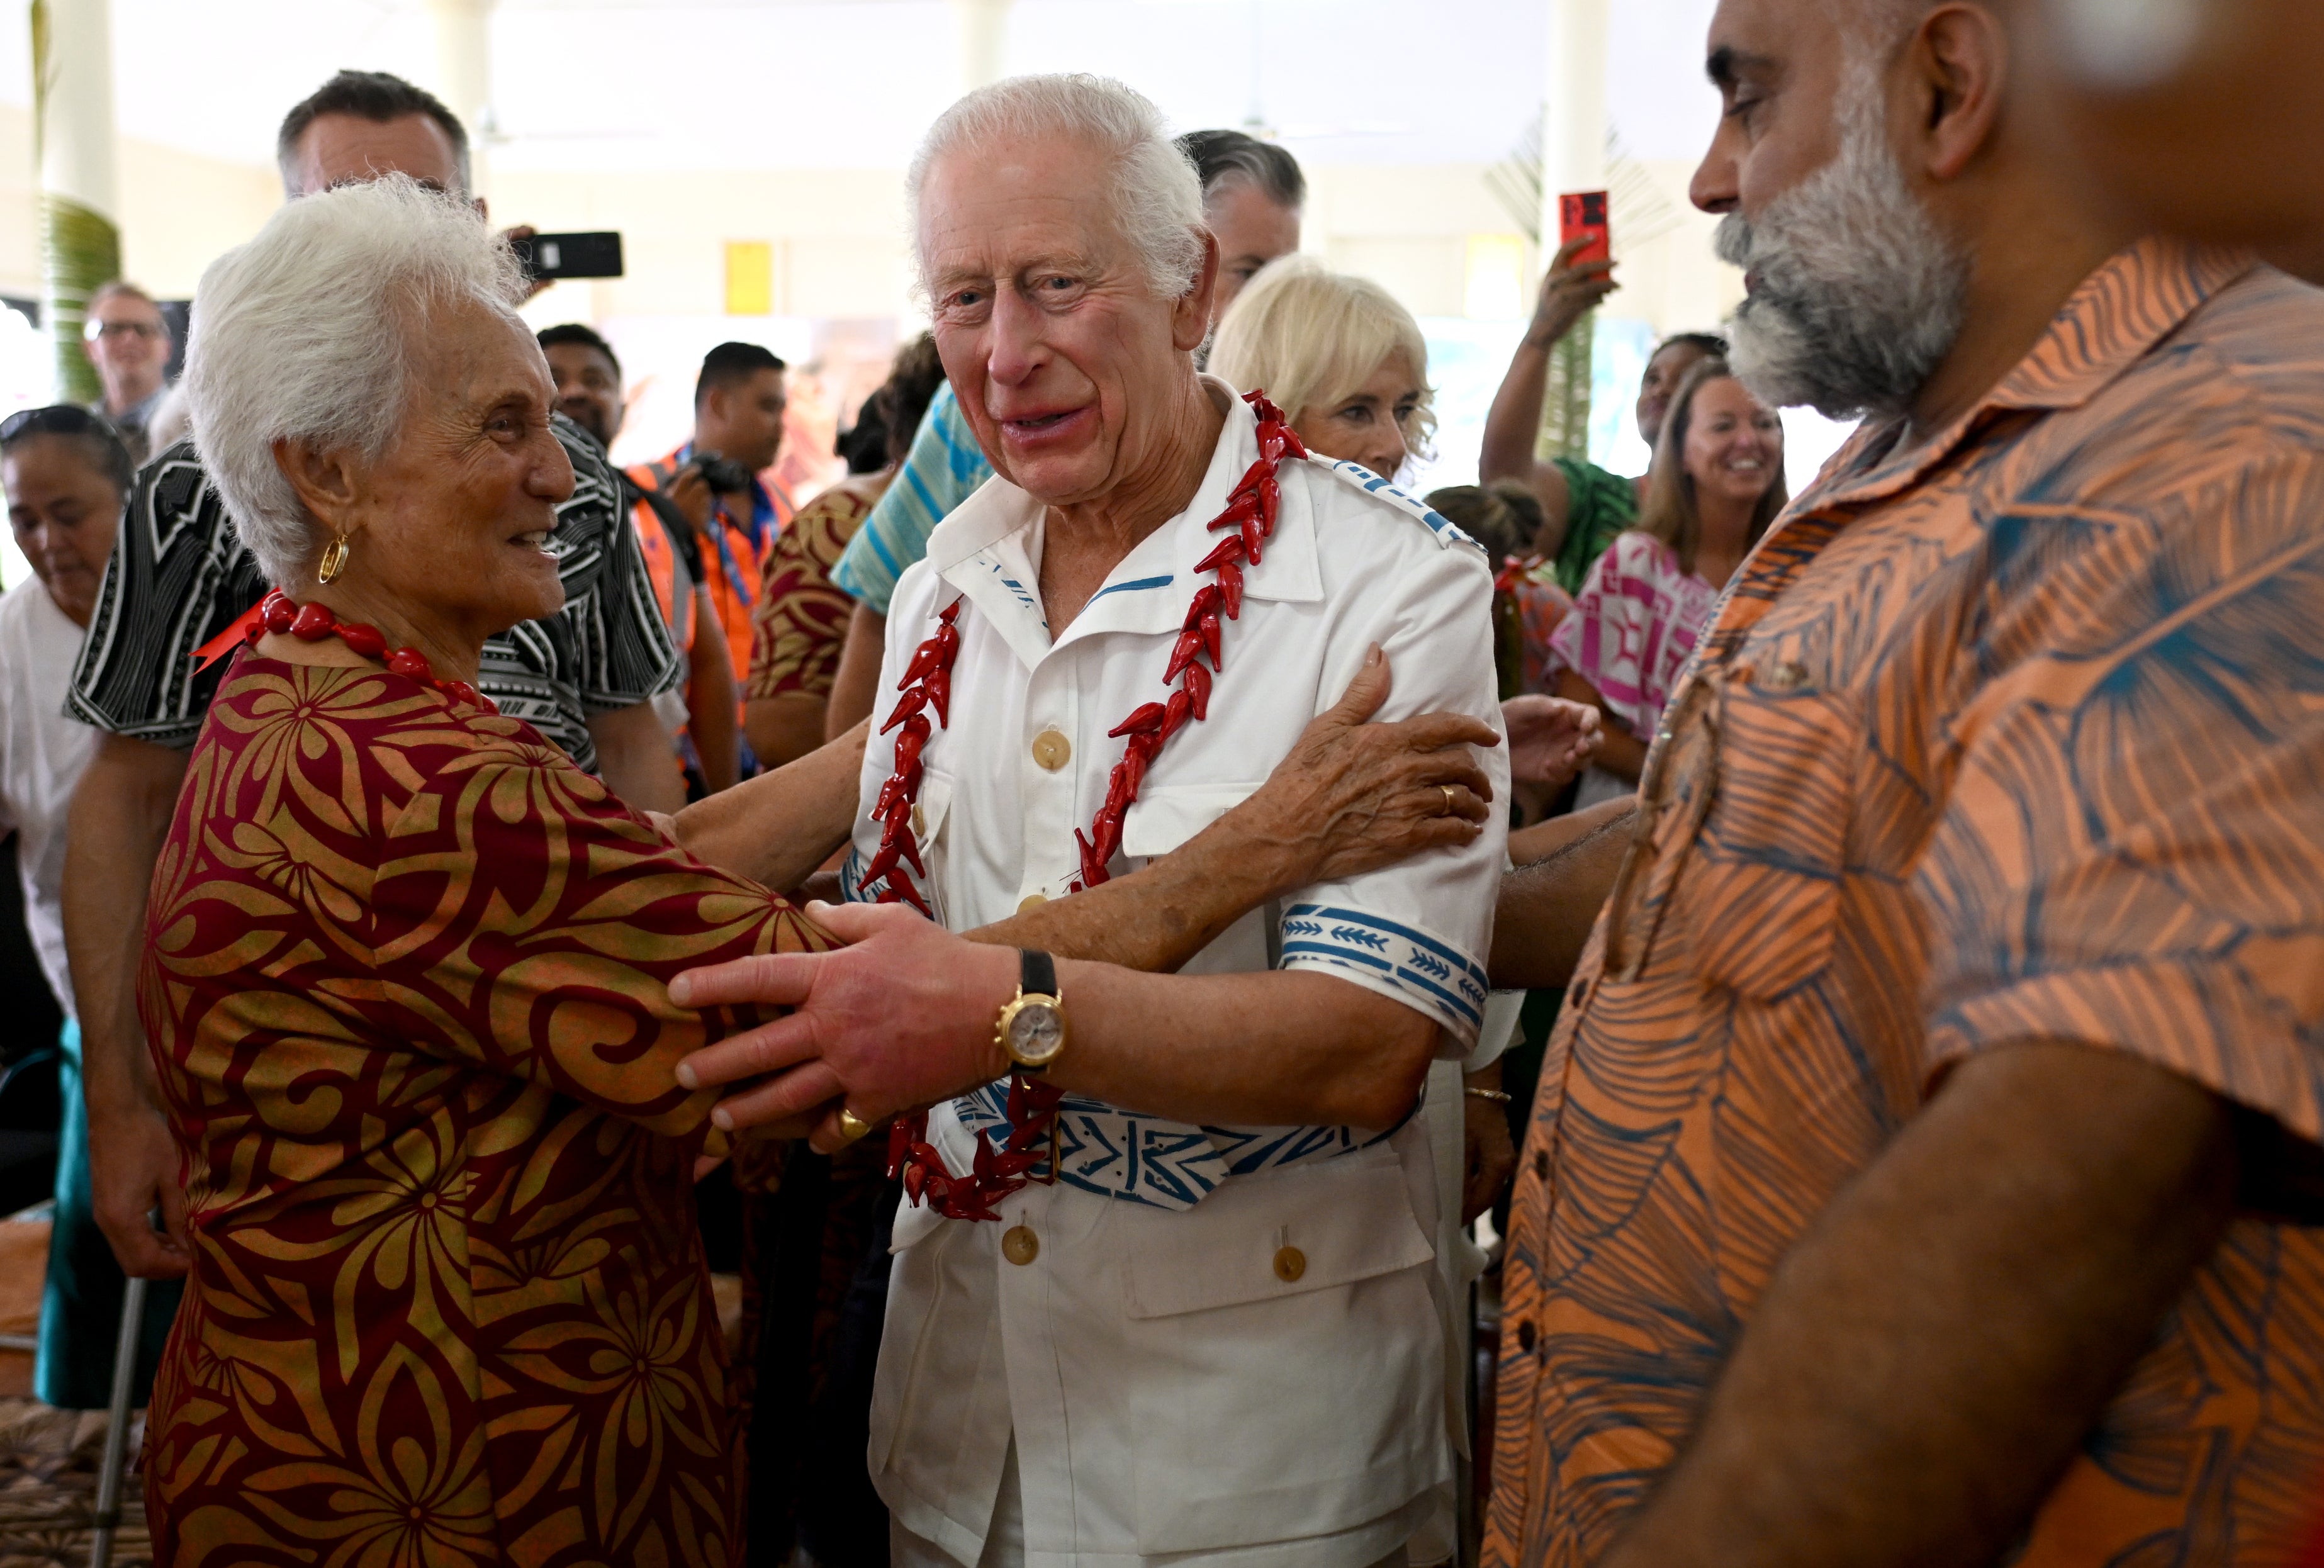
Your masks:
M 202 460 L 277 583 L 139 985 L 193 1266 L 160 1561 L 739 1561 L 690 962 L 823 938 L 467 685 L 572 467 L 476 214 L 393 177 L 202 276 Z M 825 853 L 813 846 L 811 853 Z

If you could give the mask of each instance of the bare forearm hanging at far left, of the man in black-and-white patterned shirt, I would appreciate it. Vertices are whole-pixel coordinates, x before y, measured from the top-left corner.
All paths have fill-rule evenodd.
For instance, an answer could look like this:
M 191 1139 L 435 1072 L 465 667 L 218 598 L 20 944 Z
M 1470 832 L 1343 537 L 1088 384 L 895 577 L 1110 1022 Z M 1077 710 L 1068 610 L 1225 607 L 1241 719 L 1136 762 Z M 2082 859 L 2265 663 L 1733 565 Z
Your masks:
M 153 1103 L 137 1022 L 137 964 L 153 862 L 170 836 L 184 778 L 184 753 L 109 734 L 72 794 L 65 952 L 81 1022 L 81 1083 L 98 1122 Z

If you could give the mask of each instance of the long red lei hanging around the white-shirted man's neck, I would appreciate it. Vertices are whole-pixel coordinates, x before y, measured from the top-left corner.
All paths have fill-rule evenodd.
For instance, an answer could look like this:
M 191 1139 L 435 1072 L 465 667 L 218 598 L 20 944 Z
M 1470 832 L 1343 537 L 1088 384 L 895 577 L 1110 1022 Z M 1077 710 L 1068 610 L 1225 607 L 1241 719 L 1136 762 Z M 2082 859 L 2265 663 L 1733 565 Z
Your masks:
M 1260 564 L 1267 539 L 1276 532 L 1276 511 L 1283 490 L 1276 483 L 1276 467 L 1283 458 L 1306 458 L 1306 446 L 1292 434 L 1283 411 L 1267 402 L 1264 393 L 1243 397 L 1260 418 L 1260 460 L 1250 465 L 1241 483 L 1227 495 L 1227 509 L 1211 520 L 1211 532 L 1229 530 L 1195 571 L 1208 571 L 1215 581 L 1195 590 L 1178 630 L 1178 646 L 1171 648 L 1169 669 L 1162 683 L 1178 690 L 1167 702 L 1148 702 L 1106 734 L 1122 746 L 1122 760 L 1113 764 L 1106 781 L 1106 804 L 1090 822 L 1090 832 L 1074 829 L 1081 848 L 1081 878 L 1071 890 L 1097 887 L 1109 880 L 1106 862 L 1122 848 L 1122 818 L 1139 799 L 1146 769 L 1162 755 L 1178 729 L 1190 720 L 1211 713 L 1211 676 L 1222 671 L 1220 627 L 1243 613 L 1243 567 Z M 881 785 L 871 804 L 871 818 L 881 822 L 878 853 L 865 866 L 858 887 L 883 883 L 881 904 L 911 904 L 923 915 L 934 918 L 927 899 L 920 897 L 913 876 L 927 876 L 920 864 L 920 839 L 911 827 L 911 808 L 920 799 L 920 750 L 927 739 L 944 727 L 953 706 L 953 660 L 960 655 L 960 599 L 937 616 L 937 634 L 920 643 L 904 669 L 897 690 L 902 702 L 881 725 L 881 734 L 902 729 L 895 736 L 895 771 Z M 1211 664 L 1204 669 L 1202 660 Z M 930 722 L 927 711 L 937 718 Z M 904 866 L 911 866 L 906 876 Z M 967 1175 L 944 1168 L 944 1155 L 927 1141 L 927 1113 L 916 1110 L 897 1117 L 888 1129 L 888 1175 L 904 1178 L 904 1194 L 913 1203 L 930 1203 L 948 1220 L 999 1220 L 992 1203 L 1018 1192 L 1032 1180 L 1032 1168 L 1048 1159 L 1048 1180 L 1057 1180 L 1057 1103 L 1064 1089 L 1025 1073 L 1009 1078 L 1009 1138 L 992 1148 L 988 1129 L 976 1131 L 976 1166 Z

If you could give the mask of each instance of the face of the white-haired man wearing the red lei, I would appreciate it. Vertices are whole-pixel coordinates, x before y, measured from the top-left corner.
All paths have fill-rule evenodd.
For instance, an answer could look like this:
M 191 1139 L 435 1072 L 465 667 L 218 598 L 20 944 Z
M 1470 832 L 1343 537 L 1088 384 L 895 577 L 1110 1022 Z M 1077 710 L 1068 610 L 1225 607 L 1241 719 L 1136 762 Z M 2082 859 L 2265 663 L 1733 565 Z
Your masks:
M 1195 448 L 1208 460 L 1220 418 L 1190 358 L 1208 274 L 1157 300 L 1111 186 L 1104 156 L 1048 137 L 944 158 L 920 193 L 946 376 L 995 472 L 1060 509 L 1160 504 Z

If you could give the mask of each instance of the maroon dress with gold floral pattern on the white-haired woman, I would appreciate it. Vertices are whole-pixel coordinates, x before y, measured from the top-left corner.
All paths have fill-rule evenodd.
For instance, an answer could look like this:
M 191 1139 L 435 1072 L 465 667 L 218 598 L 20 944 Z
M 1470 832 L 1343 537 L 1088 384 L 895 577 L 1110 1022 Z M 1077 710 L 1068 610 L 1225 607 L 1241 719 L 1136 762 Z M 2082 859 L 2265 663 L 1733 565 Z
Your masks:
M 528 725 L 244 653 L 139 1006 L 193 1273 L 165 1563 L 730 1563 L 734 1445 L 669 976 L 827 945 Z

